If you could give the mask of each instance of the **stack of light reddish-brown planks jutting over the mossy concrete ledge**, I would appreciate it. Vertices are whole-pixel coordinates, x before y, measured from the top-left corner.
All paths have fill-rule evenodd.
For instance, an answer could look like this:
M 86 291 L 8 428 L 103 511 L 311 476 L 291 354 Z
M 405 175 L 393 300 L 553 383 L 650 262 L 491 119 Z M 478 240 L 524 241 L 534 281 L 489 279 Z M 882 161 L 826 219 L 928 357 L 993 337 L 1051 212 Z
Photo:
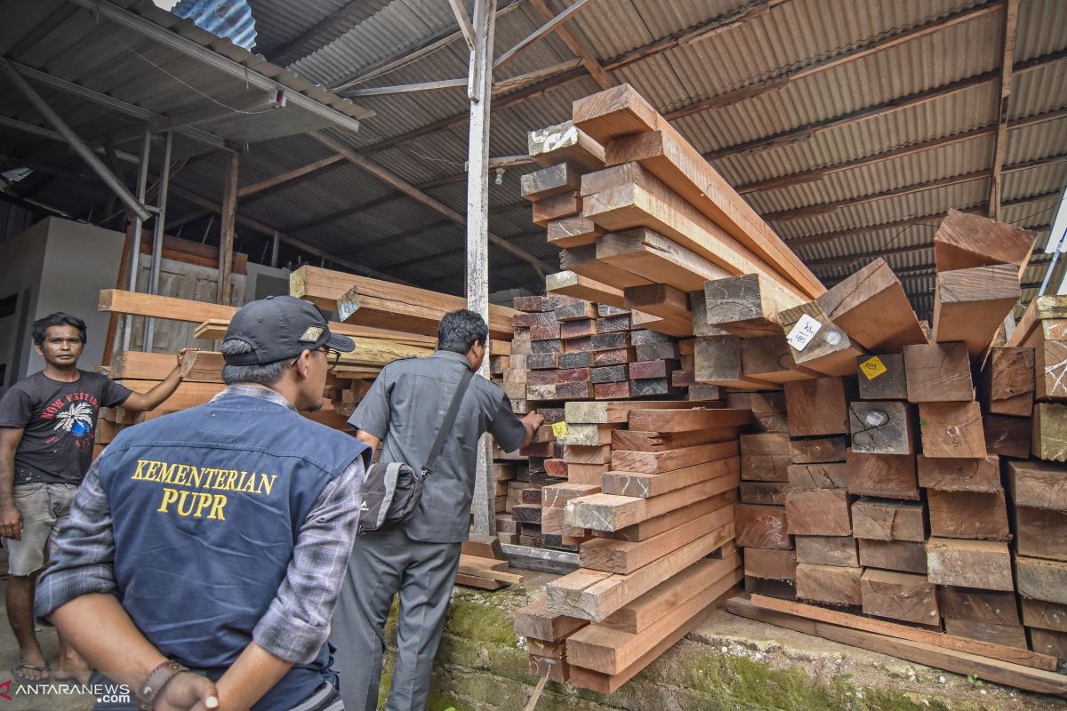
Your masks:
M 604 463 L 544 488 L 566 501 L 555 507 L 582 565 L 546 586 L 547 611 L 591 623 L 567 637 L 564 673 L 610 693 L 744 577 L 734 503 L 750 413 L 637 400 L 569 402 L 564 411 L 566 450 L 595 449 Z

